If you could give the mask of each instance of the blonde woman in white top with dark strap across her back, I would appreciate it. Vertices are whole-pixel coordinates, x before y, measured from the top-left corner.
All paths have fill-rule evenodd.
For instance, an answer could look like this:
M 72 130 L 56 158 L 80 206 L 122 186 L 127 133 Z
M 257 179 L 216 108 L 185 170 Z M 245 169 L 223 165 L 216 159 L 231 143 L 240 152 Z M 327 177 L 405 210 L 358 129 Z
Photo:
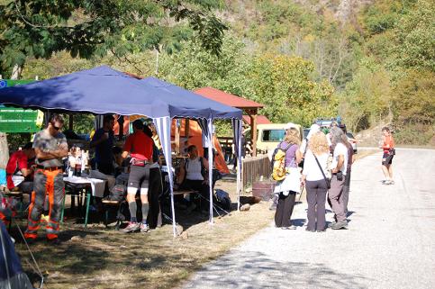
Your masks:
M 323 174 L 328 177 L 329 153 L 330 147 L 325 134 L 322 131 L 315 132 L 308 142 L 302 172 L 302 183 L 306 188 L 306 201 L 308 203 L 308 224 L 306 226 L 308 231 L 325 230 L 325 203 L 328 185 Z M 316 158 L 319 164 L 317 164 Z

